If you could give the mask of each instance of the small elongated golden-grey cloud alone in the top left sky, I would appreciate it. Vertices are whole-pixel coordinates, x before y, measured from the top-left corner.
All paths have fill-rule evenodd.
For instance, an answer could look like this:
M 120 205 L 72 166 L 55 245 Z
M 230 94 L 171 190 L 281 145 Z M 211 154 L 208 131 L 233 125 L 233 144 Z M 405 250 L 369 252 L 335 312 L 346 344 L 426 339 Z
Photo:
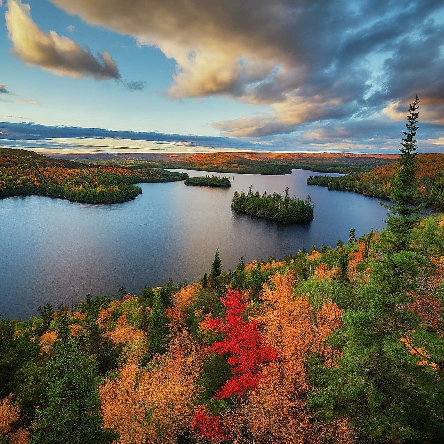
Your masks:
M 77 79 L 120 79 L 117 64 L 107 51 L 95 58 L 90 51 L 55 31 L 42 32 L 32 21 L 30 6 L 21 0 L 8 0 L 5 18 L 13 54 L 28 65 Z

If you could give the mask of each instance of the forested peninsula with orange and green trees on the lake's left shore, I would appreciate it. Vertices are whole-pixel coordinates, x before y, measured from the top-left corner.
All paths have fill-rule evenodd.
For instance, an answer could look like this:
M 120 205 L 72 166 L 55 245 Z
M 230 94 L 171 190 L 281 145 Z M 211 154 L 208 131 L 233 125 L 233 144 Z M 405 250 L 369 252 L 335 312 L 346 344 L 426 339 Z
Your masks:
M 135 183 L 188 178 L 155 168 L 130 170 L 52 159 L 33 151 L 0 148 L 0 198 L 40 195 L 76 202 L 127 202 L 142 193 Z

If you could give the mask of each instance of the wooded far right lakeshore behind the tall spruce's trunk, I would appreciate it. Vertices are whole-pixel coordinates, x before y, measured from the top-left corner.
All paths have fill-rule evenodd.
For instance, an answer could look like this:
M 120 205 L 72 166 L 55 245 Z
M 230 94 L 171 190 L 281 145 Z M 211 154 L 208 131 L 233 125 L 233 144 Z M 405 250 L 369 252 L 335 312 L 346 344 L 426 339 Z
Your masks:
M 420 192 L 420 200 L 435 210 L 444 210 L 444 155 L 418 154 L 416 168 L 416 185 Z M 307 184 L 389 200 L 393 178 L 398 170 L 399 162 L 393 162 L 377 166 L 367 173 L 353 173 L 339 177 L 309 176 Z

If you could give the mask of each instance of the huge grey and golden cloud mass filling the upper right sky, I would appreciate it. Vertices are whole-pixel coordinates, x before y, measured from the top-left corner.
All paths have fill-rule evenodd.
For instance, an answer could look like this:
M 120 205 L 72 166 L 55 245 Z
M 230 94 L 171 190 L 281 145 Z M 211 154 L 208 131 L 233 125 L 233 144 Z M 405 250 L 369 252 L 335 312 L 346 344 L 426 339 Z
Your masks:
M 173 98 L 218 95 L 270 106 L 270 113 L 215 124 L 231 136 L 381 114 L 416 92 L 423 106 L 444 104 L 436 0 L 407 7 L 387 0 L 50 1 L 173 58 Z

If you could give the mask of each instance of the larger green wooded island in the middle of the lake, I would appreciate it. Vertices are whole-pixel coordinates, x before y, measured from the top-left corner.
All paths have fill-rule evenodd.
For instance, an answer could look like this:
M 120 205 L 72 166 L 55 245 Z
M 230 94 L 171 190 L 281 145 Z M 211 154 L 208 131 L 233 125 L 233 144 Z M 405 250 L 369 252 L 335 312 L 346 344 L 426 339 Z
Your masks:
M 253 186 L 250 186 L 248 193 L 244 190 L 239 194 L 234 192 L 231 201 L 231 209 L 236 213 L 249 214 L 274 220 L 277 222 L 310 222 L 313 220 L 313 201 L 308 196 L 305 200 L 289 197 L 289 188 L 285 188 L 284 197 L 274 192 L 273 194 L 260 194 L 259 191 L 253 193 Z

